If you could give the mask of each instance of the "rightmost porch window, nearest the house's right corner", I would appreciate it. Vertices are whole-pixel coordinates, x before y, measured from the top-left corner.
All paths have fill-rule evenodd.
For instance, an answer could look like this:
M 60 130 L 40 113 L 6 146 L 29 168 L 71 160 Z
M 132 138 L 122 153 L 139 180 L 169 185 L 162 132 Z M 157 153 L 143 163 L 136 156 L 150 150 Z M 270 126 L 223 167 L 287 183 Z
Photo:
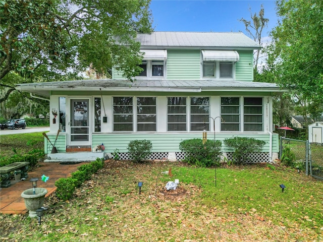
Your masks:
M 262 97 L 245 97 L 243 99 L 243 130 L 263 131 Z

